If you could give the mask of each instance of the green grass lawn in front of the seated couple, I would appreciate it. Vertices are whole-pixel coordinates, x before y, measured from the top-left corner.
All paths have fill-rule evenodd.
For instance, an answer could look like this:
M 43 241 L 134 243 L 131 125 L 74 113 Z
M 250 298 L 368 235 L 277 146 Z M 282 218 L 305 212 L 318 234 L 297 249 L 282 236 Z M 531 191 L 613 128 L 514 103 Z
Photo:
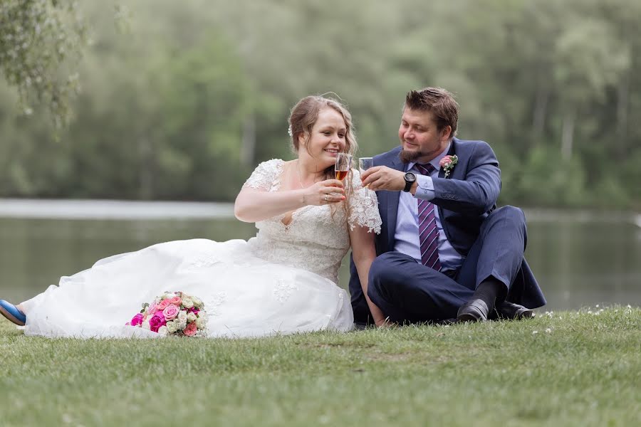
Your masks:
M 24 337 L 0 426 L 640 426 L 641 309 L 266 339 Z

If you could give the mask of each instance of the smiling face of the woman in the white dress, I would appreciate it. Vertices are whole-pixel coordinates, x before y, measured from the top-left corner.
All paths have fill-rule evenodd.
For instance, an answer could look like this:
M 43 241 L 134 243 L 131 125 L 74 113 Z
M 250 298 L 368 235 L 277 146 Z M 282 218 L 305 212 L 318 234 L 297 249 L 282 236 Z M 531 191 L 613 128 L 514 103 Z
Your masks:
M 311 135 L 298 137 L 298 157 L 309 156 L 321 166 L 330 167 L 336 162 L 339 152 L 345 151 L 347 126 L 343 116 L 333 108 L 323 108 L 311 130 Z

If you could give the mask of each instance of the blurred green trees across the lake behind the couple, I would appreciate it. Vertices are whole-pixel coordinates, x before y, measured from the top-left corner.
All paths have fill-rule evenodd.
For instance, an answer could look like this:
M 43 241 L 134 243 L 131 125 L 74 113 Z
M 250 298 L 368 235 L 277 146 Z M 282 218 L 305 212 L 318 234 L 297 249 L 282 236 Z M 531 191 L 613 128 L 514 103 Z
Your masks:
M 641 207 L 638 1 L 89 3 L 0 0 L 0 196 L 231 201 L 300 97 L 340 95 L 372 155 L 438 85 L 501 203 Z

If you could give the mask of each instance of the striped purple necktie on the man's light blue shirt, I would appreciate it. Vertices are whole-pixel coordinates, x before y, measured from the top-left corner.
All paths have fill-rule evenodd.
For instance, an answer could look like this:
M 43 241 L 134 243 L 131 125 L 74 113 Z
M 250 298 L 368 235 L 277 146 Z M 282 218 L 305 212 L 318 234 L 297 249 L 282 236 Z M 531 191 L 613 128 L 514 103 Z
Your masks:
M 415 164 L 416 169 L 427 175 L 434 172 L 434 167 L 429 164 Z M 418 199 L 419 240 L 421 242 L 421 263 L 434 270 L 441 270 L 439 260 L 439 228 L 434 216 L 434 204 L 431 201 Z

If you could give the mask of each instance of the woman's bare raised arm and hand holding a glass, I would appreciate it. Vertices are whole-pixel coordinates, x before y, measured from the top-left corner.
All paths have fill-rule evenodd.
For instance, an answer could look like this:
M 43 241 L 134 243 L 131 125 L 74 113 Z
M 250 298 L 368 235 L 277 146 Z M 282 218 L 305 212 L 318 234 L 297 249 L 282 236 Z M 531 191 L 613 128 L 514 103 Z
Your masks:
M 307 205 L 338 203 L 345 200 L 343 191 L 343 183 L 337 179 L 300 190 L 264 191 L 244 186 L 236 196 L 234 215 L 239 221 L 263 221 Z

